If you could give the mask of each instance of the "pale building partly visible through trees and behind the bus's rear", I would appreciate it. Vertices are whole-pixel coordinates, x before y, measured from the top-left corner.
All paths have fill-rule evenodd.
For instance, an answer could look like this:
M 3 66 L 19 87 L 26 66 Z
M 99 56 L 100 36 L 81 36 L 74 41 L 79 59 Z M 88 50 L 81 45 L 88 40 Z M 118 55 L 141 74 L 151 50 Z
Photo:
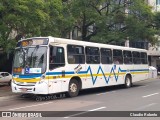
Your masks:
M 152 12 L 160 11 L 160 0 L 146 0 L 146 3 L 152 7 Z M 104 6 L 105 6 L 105 4 L 106 3 L 104 3 Z M 102 6 L 100 6 L 100 7 L 102 7 Z M 129 14 L 129 11 L 127 8 L 125 9 L 125 13 L 126 13 L 126 15 Z M 89 27 L 88 32 L 89 31 L 93 31 L 93 26 Z M 80 39 L 81 35 L 82 35 L 81 31 L 75 27 L 73 29 L 73 31 L 70 32 L 68 38 Z M 109 44 L 146 49 L 146 50 L 148 50 L 148 55 L 149 55 L 149 58 L 148 58 L 149 65 L 157 67 L 157 66 L 160 66 L 160 37 L 159 36 L 156 36 L 156 37 L 157 37 L 157 39 L 159 39 L 159 42 L 156 45 L 152 45 L 148 41 L 129 42 L 129 40 L 126 40 L 125 43 L 117 43 L 116 42 L 116 43 L 109 43 Z

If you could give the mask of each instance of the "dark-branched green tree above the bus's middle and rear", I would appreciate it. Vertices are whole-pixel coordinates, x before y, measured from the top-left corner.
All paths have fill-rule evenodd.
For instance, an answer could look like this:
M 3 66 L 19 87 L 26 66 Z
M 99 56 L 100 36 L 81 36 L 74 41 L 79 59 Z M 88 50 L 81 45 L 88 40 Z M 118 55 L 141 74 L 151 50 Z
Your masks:
M 153 13 L 144 0 L 70 0 L 75 18 L 72 28 L 81 40 L 109 43 L 152 40 Z

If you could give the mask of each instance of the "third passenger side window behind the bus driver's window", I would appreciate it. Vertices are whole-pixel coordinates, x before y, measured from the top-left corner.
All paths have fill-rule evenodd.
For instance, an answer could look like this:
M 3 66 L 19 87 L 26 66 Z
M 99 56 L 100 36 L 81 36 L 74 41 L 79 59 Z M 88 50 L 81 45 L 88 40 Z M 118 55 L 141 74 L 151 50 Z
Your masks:
M 101 48 L 101 63 L 102 64 L 111 64 L 112 63 L 111 49 Z

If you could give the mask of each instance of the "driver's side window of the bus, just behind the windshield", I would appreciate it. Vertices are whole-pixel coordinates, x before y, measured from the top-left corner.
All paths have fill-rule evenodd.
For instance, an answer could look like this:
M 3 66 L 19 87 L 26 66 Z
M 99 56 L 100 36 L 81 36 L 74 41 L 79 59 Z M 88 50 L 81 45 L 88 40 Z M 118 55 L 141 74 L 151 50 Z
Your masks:
M 64 48 L 50 46 L 49 69 L 62 67 L 65 65 Z

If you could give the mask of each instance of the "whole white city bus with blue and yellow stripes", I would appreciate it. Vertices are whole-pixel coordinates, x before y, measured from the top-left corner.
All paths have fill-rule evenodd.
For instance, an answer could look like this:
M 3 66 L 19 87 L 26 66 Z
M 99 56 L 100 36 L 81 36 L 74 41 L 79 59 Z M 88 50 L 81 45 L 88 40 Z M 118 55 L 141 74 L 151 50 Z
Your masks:
M 20 40 L 12 91 L 47 95 L 132 83 L 148 78 L 147 51 L 55 37 Z

